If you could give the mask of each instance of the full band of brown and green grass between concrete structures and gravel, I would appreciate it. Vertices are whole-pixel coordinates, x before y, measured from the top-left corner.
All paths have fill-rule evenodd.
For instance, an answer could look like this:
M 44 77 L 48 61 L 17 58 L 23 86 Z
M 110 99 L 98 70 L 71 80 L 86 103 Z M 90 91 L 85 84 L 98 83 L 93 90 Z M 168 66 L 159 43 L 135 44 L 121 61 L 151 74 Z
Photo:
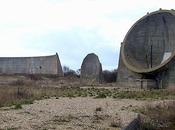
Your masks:
M 72 84 L 72 82 L 74 83 Z M 4 82 L 5 84 L 1 84 Z M 78 84 L 78 79 L 64 79 L 57 76 L 41 75 L 0 75 L 0 107 L 16 104 L 30 104 L 34 100 L 49 97 L 94 97 L 136 100 L 175 99 L 175 91 L 132 90 L 89 88 Z M 107 85 L 107 84 L 105 84 Z M 52 87 L 51 87 L 52 86 Z M 108 86 L 109 87 L 109 86 Z

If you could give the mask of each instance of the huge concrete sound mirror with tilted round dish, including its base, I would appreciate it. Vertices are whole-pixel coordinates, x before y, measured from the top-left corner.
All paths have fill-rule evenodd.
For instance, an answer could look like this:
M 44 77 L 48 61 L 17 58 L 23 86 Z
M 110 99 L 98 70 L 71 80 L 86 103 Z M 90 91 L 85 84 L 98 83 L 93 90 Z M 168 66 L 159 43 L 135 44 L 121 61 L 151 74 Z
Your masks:
M 138 20 L 121 44 L 118 83 L 175 87 L 175 11 L 159 10 Z

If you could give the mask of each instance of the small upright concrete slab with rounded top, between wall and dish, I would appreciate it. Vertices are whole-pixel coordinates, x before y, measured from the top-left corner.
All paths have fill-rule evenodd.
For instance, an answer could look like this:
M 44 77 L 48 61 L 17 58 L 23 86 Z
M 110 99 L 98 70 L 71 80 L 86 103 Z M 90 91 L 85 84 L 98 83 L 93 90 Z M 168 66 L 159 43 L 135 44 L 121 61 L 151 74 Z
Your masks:
M 102 65 L 96 54 L 88 54 L 81 65 L 81 82 L 100 83 L 102 80 Z

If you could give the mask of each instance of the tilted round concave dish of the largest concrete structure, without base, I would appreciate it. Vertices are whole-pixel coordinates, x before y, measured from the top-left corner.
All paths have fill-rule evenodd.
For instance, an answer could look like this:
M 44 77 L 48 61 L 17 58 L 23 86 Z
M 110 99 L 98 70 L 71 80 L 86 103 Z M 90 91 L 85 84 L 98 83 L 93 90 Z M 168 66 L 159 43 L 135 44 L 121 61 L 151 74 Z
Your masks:
M 128 31 L 121 48 L 128 69 L 150 73 L 175 57 L 175 11 L 159 10 L 139 19 Z

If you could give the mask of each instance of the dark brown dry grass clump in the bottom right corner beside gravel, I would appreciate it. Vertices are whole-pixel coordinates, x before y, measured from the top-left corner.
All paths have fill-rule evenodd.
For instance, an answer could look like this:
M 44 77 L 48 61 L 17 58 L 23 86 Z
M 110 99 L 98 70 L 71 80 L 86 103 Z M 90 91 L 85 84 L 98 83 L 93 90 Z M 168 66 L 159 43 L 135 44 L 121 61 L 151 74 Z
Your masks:
M 139 111 L 143 118 L 143 130 L 174 130 L 175 129 L 175 101 L 148 105 Z

